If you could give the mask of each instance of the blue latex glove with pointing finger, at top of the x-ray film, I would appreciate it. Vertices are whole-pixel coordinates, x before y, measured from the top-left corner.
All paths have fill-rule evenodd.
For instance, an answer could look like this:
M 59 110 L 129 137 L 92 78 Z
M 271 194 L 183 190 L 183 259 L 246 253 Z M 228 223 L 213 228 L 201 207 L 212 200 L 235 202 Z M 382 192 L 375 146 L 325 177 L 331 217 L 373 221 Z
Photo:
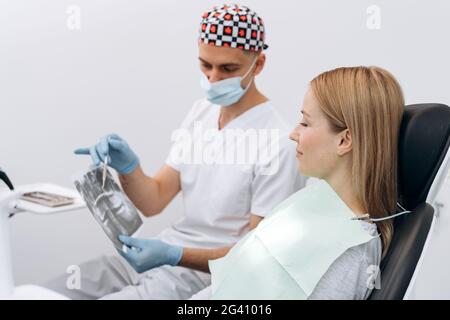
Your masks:
M 98 166 L 108 157 L 108 165 L 120 174 L 133 172 L 139 164 L 139 158 L 128 143 L 117 134 L 110 134 L 90 148 L 79 148 L 75 154 L 90 154 L 92 162 Z

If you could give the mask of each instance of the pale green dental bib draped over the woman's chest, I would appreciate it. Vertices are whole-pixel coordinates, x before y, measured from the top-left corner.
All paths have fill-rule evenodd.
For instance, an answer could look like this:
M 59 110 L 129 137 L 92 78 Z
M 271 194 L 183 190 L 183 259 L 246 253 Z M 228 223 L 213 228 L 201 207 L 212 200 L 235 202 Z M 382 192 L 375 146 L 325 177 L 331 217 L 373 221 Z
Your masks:
M 331 264 L 371 236 L 321 180 L 295 193 L 221 259 L 212 299 L 307 299 Z

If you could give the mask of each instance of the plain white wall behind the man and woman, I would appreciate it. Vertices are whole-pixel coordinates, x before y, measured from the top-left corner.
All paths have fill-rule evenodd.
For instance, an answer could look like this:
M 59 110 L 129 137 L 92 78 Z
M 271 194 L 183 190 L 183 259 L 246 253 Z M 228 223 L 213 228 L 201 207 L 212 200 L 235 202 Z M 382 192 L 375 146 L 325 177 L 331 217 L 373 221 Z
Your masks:
M 201 97 L 196 37 L 200 16 L 223 1 L 0 0 L 0 166 L 16 184 L 71 186 L 87 158 L 73 149 L 117 132 L 148 173 L 162 164 L 170 134 Z M 450 2 L 248 0 L 266 22 L 267 68 L 258 80 L 291 121 L 318 73 L 379 65 L 408 103 L 450 104 Z M 66 26 L 69 5 L 81 29 Z M 370 30 L 367 8 L 381 9 Z M 155 234 L 182 214 L 179 198 L 148 220 Z M 39 283 L 103 253 L 109 241 L 87 210 L 12 220 L 18 283 Z M 448 257 L 447 257 L 448 258 Z

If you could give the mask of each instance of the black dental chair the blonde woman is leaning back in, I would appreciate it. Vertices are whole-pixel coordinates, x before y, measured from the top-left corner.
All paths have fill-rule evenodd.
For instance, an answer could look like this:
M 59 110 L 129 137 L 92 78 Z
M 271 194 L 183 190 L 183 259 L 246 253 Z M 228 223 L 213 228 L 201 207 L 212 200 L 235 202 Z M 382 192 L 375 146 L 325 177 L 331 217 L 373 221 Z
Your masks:
M 381 262 L 381 288 L 370 300 L 401 300 L 410 285 L 433 221 L 426 202 L 450 145 L 450 108 L 407 106 L 399 136 L 399 203 L 411 213 L 394 220 L 394 236 Z

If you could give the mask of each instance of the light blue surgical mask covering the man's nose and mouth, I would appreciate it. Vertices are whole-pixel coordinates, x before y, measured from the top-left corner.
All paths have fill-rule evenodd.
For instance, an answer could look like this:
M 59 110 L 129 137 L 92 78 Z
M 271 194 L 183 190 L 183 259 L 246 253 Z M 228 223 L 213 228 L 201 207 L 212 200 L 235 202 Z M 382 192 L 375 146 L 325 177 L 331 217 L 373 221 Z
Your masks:
M 208 77 L 202 74 L 200 86 L 205 91 L 206 98 L 208 99 L 208 101 L 214 104 L 218 104 L 222 107 L 228 107 L 238 102 L 248 91 L 248 89 L 253 83 L 252 78 L 252 81 L 250 81 L 250 83 L 247 85 L 245 89 L 243 89 L 241 86 L 242 80 L 247 78 L 247 76 L 253 70 L 253 67 L 255 66 L 257 60 L 258 57 L 255 58 L 255 60 L 252 63 L 252 66 L 245 73 L 245 75 L 240 77 L 234 77 L 210 83 Z

